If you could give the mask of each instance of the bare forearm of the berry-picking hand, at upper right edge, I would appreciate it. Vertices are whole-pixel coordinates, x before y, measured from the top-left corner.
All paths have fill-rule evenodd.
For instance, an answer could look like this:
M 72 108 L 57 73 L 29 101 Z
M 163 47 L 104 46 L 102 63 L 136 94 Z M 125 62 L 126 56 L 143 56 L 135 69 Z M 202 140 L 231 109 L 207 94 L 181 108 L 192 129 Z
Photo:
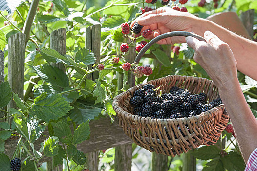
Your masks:
M 249 77 L 257 80 L 257 43 L 215 24 L 212 21 L 200 19 L 194 32 L 203 35 L 207 30 L 216 34 L 219 39 L 227 43 L 233 51 L 237 61 L 237 69 Z M 199 27 L 200 26 L 200 27 Z M 198 28 L 197 28 L 198 27 Z

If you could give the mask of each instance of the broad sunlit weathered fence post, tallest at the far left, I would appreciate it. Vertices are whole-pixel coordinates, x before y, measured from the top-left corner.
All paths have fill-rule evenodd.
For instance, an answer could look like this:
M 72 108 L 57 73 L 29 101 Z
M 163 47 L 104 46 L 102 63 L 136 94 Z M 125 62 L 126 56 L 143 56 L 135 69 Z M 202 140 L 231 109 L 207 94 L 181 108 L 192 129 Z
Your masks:
M 26 35 L 16 33 L 8 39 L 8 81 L 14 93 L 23 99 Z M 16 108 L 13 100 L 7 106 Z M 11 121 L 10 121 L 11 122 Z

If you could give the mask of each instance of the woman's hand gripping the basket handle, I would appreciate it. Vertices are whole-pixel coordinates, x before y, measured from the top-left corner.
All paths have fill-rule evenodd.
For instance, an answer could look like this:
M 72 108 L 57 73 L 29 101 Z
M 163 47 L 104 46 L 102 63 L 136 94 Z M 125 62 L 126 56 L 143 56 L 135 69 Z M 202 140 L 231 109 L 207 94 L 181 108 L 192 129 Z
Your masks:
M 195 50 L 195 62 L 205 69 L 218 88 L 237 83 L 236 60 L 228 44 L 210 31 L 204 33 L 204 38 L 207 43 L 193 37 L 186 38 L 187 44 Z

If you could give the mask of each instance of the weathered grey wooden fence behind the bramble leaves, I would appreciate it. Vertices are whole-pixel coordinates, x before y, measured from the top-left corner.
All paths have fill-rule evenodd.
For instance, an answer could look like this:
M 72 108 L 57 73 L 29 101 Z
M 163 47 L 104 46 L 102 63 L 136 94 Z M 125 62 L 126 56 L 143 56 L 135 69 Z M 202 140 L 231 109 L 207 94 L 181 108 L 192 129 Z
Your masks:
M 248 16 L 248 17 L 244 17 Z M 249 10 L 245 12 L 242 17 L 243 23 L 247 28 L 253 28 L 253 11 Z M 248 29 L 249 34 L 252 36 L 252 30 Z M 96 63 L 100 61 L 100 41 L 101 41 L 101 26 L 93 25 L 86 28 L 86 42 L 85 47 L 90 49 L 96 55 Z M 128 42 L 129 43 L 129 42 Z M 23 84 L 24 84 L 24 57 L 25 57 L 25 44 L 26 36 L 22 33 L 16 33 L 9 37 L 8 40 L 8 81 L 11 85 L 12 91 L 17 93 L 21 99 L 28 99 L 31 93 L 25 94 L 23 97 Z M 60 54 L 66 53 L 66 29 L 58 29 L 50 35 L 50 47 L 57 50 Z M 166 53 L 171 54 L 170 47 Z M 132 63 L 136 53 L 134 49 L 130 48 L 129 55 L 126 57 L 126 61 Z M 3 61 L 3 53 L 0 52 L 0 62 Z M 154 62 L 157 64 L 157 60 Z M 65 71 L 64 65 L 51 64 L 59 67 Z M 0 83 L 3 81 L 3 63 L 0 63 Z M 95 80 L 98 77 L 97 74 L 91 75 L 90 79 Z M 123 75 L 117 74 L 119 80 L 118 89 L 123 87 Z M 128 73 L 129 83 L 132 84 L 132 75 Z M 38 77 L 32 78 L 34 82 L 39 80 Z M 33 84 L 29 84 L 28 88 L 33 89 Z M 8 104 L 8 108 L 14 107 L 15 103 L 11 101 Z M 0 113 L 0 117 L 3 117 Z M 98 171 L 98 155 L 99 150 L 116 147 L 115 150 L 115 171 L 131 171 L 132 160 L 132 141 L 123 133 L 122 128 L 119 127 L 118 122 L 115 121 L 110 124 L 110 119 L 101 118 L 99 120 L 92 120 L 90 125 L 90 139 L 84 141 L 78 145 L 78 150 L 86 153 L 87 167 L 90 171 Z M 47 131 L 44 134 L 48 135 Z M 43 142 L 43 138 L 37 140 L 38 144 Z M 17 140 L 7 140 L 5 143 L 5 153 L 11 157 L 14 152 L 14 147 L 17 145 Z M 183 171 L 195 171 L 196 159 L 192 156 L 191 152 L 184 154 L 183 159 Z M 52 168 L 51 160 L 45 158 L 47 161 L 47 171 L 60 171 L 62 166 Z M 168 157 L 162 154 L 153 153 L 152 155 L 152 171 L 167 171 L 168 170 Z

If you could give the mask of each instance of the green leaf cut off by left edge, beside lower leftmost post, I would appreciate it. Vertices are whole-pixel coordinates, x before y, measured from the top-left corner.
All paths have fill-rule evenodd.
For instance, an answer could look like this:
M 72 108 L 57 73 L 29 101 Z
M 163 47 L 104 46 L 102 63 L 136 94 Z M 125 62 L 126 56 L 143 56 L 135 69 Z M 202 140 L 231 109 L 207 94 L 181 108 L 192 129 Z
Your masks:
M 11 87 L 8 82 L 0 84 L 0 108 L 5 107 L 12 99 Z

